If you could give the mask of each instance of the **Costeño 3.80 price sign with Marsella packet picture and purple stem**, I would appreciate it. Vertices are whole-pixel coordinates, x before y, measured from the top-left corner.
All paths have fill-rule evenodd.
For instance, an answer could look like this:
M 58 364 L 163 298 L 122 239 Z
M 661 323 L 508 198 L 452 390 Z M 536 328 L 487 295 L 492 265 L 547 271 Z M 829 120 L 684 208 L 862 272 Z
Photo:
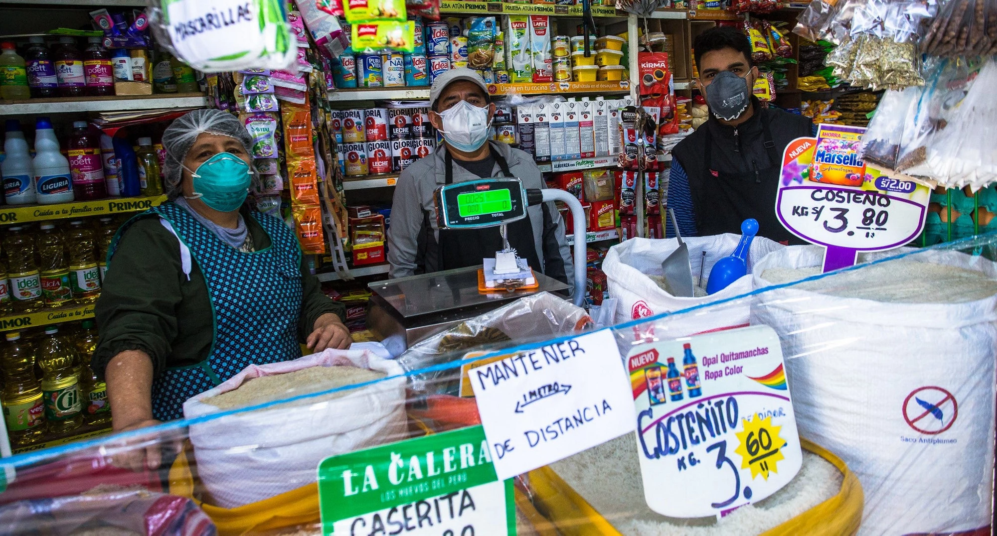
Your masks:
M 787 145 L 776 196 L 783 226 L 827 248 L 825 272 L 853 265 L 860 251 L 893 249 L 916 238 L 931 193 L 911 177 L 859 160 L 855 151 L 864 129 L 833 127 L 822 125 L 819 137 Z

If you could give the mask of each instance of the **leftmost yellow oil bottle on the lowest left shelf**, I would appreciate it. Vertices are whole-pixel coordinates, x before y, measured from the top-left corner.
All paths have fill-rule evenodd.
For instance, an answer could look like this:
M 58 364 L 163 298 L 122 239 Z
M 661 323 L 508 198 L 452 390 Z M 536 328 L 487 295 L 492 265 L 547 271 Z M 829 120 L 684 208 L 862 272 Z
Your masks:
M 7 433 L 14 446 L 24 446 L 45 434 L 45 402 L 35 378 L 35 354 L 19 332 L 7 334 L 0 357 L 4 387 L 0 392 Z

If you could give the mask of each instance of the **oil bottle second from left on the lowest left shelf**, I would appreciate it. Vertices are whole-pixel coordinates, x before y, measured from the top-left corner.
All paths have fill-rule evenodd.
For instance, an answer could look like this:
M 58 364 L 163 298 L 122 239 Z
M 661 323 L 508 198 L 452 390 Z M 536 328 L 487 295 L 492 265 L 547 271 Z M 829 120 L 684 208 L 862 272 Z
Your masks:
M 59 328 L 45 328 L 45 338 L 38 346 L 38 365 L 44 374 L 42 395 L 51 433 L 69 431 L 83 422 L 78 363 L 76 348 L 59 337 Z

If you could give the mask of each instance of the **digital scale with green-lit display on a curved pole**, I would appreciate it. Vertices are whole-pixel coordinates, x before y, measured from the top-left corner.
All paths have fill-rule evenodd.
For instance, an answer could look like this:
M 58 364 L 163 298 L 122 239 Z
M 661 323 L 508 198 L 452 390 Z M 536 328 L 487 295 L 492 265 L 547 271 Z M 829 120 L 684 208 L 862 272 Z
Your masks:
M 574 294 L 585 299 L 585 212 L 577 197 L 559 189 L 526 189 L 517 178 L 496 177 L 447 184 L 434 192 L 441 229 L 498 226 L 502 250 L 483 266 L 458 268 L 370 283 L 367 327 L 394 356 L 417 342 L 469 318 L 540 292 L 563 292 L 564 283 L 533 272 L 506 240 L 505 226 L 526 217 L 526 209 L 562 201 L 574 220 Z M 514 264 L 513 264 L 514 263 Z M 513 271 L 513 266 L 515 270 Z M 491 283 L 491 287 L 489 284 Z

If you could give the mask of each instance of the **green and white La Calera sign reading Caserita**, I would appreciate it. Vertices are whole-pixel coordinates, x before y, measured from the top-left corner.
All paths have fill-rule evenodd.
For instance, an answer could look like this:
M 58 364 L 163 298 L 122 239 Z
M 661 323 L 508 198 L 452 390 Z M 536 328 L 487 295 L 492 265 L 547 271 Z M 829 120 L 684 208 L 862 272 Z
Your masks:
M 322 534 L 515 534 L 512 480 L 499 481 L 473 426 L 330 456 L 318 466 Z

